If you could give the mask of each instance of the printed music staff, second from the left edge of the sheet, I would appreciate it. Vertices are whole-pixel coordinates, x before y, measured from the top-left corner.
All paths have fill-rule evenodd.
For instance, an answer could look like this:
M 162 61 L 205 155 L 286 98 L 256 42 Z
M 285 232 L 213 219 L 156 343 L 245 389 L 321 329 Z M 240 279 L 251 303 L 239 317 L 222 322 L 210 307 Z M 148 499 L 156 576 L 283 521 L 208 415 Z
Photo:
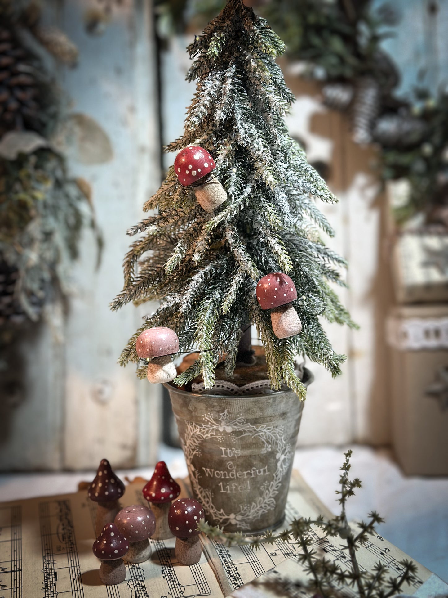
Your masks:
M 40 502 L 39 526 L 45 598 L 56 598 L 62 593 L 84 598 L 70 502 Z

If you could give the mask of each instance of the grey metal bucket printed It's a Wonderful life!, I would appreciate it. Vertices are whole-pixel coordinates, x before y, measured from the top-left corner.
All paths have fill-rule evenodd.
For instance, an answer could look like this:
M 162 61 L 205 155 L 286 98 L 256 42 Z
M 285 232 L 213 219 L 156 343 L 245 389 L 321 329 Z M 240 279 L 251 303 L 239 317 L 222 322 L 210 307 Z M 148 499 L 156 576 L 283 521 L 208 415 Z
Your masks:
M 314 377 L 304 368 L 303 384 Z M 165 385 L 194 497 L 211 525 L 256 534 L 279 526 L 303 402 L 292 390 L 266 395 L 195 394 Z

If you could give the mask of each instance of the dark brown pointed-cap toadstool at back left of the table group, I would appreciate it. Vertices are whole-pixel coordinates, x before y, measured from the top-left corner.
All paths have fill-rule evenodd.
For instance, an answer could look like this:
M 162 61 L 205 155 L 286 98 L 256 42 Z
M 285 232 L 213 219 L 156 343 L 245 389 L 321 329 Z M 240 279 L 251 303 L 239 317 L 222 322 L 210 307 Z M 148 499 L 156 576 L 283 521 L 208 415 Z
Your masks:
M 118 499 L 124 494 L 124 484 L 113 473 L 111 464 L 102 459 L 93 482 L 88 487 L 87 495 L 98 504 L 96 511 L 95 533 L 98 536 L 106 523 L 112 523 L 121 506 Z

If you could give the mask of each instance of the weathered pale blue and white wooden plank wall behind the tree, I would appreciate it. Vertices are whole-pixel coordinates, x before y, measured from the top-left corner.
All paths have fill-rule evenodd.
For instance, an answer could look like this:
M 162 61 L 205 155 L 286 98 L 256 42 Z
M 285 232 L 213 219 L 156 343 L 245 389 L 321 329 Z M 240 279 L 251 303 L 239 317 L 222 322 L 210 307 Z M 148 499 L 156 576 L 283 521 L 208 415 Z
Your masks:
M 383 46 L 401 72 L 399 91 L 415 86 L 419 69 L 435 90 L 448 74 L 448 2 L 393 4 L 401 19 Z M 111 1 L 105 22 L 91 20 L 104 9 L 100 0 L 45 0 L 44 8 L 44 19 L 79 48 L 75 68 L 55 67 L 70 98 L 57 141 L 70 172 L 91 187 L 104 245 L 96 267 L 94 235 L 85 231 L 66 315 L 49 313 L 47 322 L 25 330 L 14 367 L 1 374 L 0 468 L 93 468 L 105 454 L 117 468 L 151 464 L 161 434 L 161 389 L 139 382 L 116 359 L 141 316 L 154 307 L 112 313 L 108 304 L 122 286 L 121 261 L 130 242 L 125 232 L 141 218 L 145 199 L 174 159 L 162 156 L 161 144 L 179 136 L 195 91 L 185 81 L 185 47 L 194 31 L 162 39 L 156 23 L 161 10 L 151 0 Z M 281 66 L 297 96 L 287 120 L 291 135 L 340 198 L 321 208 L 336 229 L 330 243 L 349 261 L 350 288 L 342 299 L 360 325 L 359 331 L 327 327 L 348 361 L 336 380 L 312 365 L 316 381 L 299 442 L 388 444 L 385 325 L 394 297 L 388 203 L 372 170 L 375 149 L 354 144 L 348 120 L 324 108 L 320 87 L 299 76 L 297 62 L 283 58 Z

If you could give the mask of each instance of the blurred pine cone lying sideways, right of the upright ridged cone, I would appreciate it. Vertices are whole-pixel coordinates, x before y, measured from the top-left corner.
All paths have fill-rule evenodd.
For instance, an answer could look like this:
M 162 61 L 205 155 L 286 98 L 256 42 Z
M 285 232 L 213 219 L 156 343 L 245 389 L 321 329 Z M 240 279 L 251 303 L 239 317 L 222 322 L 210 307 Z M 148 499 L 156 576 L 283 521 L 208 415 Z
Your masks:
M 383 147 L 407 148 L 418 145 L 426 133 L 426 123 L 410 115 L 385 114 L 373 129 L 373 139 Z

